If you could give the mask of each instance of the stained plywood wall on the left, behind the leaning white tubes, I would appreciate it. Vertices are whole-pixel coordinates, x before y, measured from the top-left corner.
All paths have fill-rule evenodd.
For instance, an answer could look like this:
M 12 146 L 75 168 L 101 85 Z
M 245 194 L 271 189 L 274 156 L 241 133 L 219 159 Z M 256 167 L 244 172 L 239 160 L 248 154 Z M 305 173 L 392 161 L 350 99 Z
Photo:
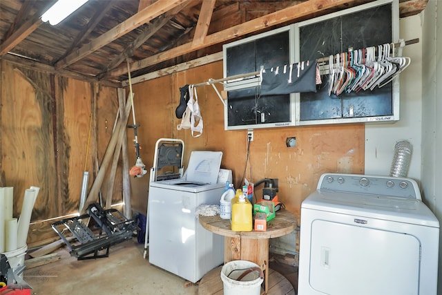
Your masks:
M 50 222 L 41 220 L 78 212 L 85 164 L 90 187 L 96 161 L 101 160 L 112 133 L 116 93 L 114 88 L 1 61 L 0 185 L 14 187 L 15 217 L 19 217 L 24 191 L 40 187 L 28 245 L 57 235 Z M 121 174 L 120 170 L 117 175 Z M 121 200 L 119 188 L 115 196 Z

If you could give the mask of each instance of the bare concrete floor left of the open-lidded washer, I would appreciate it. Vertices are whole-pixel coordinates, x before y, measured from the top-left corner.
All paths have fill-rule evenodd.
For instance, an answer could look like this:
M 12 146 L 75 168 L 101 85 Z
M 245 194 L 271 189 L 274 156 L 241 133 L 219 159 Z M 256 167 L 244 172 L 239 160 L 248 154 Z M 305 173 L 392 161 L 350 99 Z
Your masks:
M 143 251 L 133 239 L 112 246 L 107 258 L 77 260 L 64 247 L 55 252 L 60 260 L 25 269 L 23 280 L 36 295 L 198 294 L 198 285 L 151 265 Z

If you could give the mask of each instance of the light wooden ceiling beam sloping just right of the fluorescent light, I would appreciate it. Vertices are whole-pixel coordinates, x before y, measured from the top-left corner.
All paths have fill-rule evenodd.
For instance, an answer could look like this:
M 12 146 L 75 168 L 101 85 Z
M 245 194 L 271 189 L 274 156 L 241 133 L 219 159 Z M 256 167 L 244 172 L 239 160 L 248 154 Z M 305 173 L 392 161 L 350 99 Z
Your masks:
M 126 35 L 128 32 L 131 32 L 135 28 L 142 26 L 142 24 L 151 21 L 155 17 L 162 15 L 164 12 L 175 8 L 185 1 L 187 0 L 156 1 L 151 6 L 148 6 L 147 8 L 144 8 L 142 11 L 138 12 L 136 15 L 129 17 L 126 19 L 126 21 L 119 23 L 119 25 L 115 26 L 115 28 L 108 30 L 108 32 L 105 32 L 97 39 L 94 39 L 90 43 L 75 50 L 64 59 L 61 59 L 59 62 L 57 62 L 57 64 L 55 64 L 55 68 L 57 68 L 57 70 L 66 68 L 66 66 L 69 66 L 70 64 L 75 63 L 75 61 L 86 57 L 95 50 L 106 46 L 115 39 Z

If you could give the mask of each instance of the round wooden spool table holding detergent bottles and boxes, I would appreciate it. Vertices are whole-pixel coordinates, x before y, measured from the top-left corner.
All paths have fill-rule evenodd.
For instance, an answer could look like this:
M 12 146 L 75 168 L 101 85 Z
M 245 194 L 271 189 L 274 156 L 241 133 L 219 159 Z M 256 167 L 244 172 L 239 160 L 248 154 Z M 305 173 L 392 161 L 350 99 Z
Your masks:
M 297 227 L 294 213 L 285 209 L 276 212 L 275 218 L 267 222 L 267 231 L 232 231 L 230 220 L 217 216 L 200 216 L 204 229 L 224 236 L 224 263 L 231 260 L 249 260 L 259 265 L 264 272 L 267 294 L 269 285 L 269 239 L 285 236 Z

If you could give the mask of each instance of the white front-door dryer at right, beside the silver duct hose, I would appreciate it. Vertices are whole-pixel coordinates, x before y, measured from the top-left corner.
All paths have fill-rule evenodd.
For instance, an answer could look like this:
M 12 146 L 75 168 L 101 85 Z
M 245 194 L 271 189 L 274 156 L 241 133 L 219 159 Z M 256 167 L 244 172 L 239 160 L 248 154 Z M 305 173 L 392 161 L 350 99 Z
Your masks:
M 439 221 L 414 180 L 321 175 L 301 204 L 299 295 L 434 295 Z

